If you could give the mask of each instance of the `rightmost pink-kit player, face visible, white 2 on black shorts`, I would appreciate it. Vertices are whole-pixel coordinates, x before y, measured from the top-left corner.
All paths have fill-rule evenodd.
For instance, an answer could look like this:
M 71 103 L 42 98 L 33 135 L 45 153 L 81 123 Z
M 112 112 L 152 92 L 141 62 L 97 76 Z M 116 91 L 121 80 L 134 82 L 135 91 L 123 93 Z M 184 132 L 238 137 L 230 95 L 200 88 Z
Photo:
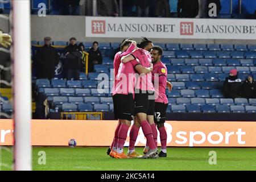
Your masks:
M 155 90 L 158 95 L 155 97 L 155 118 L 154 121 L 158 126 L 161 141 L 161 151 L 159 157 L 166 157 L 166 140 L 167 133 L 164 128 L 164 122 L 166 122 L 166 109 L 168 106 L 168 99 L 166 96 L 166 82 L 167 82 L 167 68 L 161 61 L 163 49 L 159 46 L 153 46 L 151 48 L 151 58 L 153 63 L 152 81 L 155 85 Z M 154 82 L 158 77 L 158 83 Z

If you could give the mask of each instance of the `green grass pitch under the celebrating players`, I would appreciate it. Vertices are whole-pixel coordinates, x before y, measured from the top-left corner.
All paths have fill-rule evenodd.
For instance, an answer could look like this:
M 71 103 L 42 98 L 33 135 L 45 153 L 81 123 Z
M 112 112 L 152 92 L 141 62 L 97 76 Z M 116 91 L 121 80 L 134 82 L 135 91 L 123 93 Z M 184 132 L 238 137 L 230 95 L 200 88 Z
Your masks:
M 0 147 L 1 148 L 1 147 Z M 167 148 L 167 158 L 113 159 L 107 147 L 33 147 L 33 170 L 256 170 L 256 148 Z M 136 150 L 141 152 L 142 147 Z M 46 164 L 38 164 L 39 152 L 46 152 Z M 209 152 L 216 151 L 217 164 L 209 164 Z M 127 147 L 125 148 L 127 152 Z M 10 170 L 12 154 L 1 150 L 2 170 Z

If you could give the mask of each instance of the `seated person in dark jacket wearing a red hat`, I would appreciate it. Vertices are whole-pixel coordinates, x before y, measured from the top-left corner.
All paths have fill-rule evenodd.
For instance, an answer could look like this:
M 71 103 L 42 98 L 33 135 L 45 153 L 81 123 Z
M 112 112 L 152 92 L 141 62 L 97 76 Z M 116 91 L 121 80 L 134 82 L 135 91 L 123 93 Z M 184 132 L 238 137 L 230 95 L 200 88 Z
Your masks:
M 237 76 L 237 69 L 232 69 L 223 84 L 224 96 L 226 98 L 237 98 L 241 96 L 241 91 L 242 81 Z

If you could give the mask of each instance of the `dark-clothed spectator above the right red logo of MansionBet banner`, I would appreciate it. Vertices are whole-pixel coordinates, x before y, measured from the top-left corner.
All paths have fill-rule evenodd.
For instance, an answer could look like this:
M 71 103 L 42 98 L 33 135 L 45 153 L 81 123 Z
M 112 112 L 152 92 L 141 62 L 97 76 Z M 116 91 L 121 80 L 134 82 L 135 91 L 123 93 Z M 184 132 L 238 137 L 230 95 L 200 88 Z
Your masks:
M 198 0 L 178 0 L 177 16 L 179 18 L 195 18 L 199 13 Z

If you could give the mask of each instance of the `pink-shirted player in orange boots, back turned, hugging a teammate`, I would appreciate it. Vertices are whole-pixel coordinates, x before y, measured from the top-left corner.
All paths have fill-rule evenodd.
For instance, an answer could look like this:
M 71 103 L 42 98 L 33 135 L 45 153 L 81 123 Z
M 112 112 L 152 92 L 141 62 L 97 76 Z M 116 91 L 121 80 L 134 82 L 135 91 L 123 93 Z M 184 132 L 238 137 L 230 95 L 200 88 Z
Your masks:
M 132 115 L 134 115 L 134 87 L 135 87 L 135 70 L 138 73 L 150 73 L 152 66 L 143 67 L 138 60 L 129 61 L 129 63 L 121 63 L 119 65 L 115 84 L 113 86 L 113 104 L 115 119 L 119 119 L 121 125 L 114 140 L 113 148 L 110 156 L 113 158 L 128 158 L 123 153 L 123 145 L 127 137 L 128 129 L 131 125 Z M 117 139 L 117 144 L 116 144 Z

